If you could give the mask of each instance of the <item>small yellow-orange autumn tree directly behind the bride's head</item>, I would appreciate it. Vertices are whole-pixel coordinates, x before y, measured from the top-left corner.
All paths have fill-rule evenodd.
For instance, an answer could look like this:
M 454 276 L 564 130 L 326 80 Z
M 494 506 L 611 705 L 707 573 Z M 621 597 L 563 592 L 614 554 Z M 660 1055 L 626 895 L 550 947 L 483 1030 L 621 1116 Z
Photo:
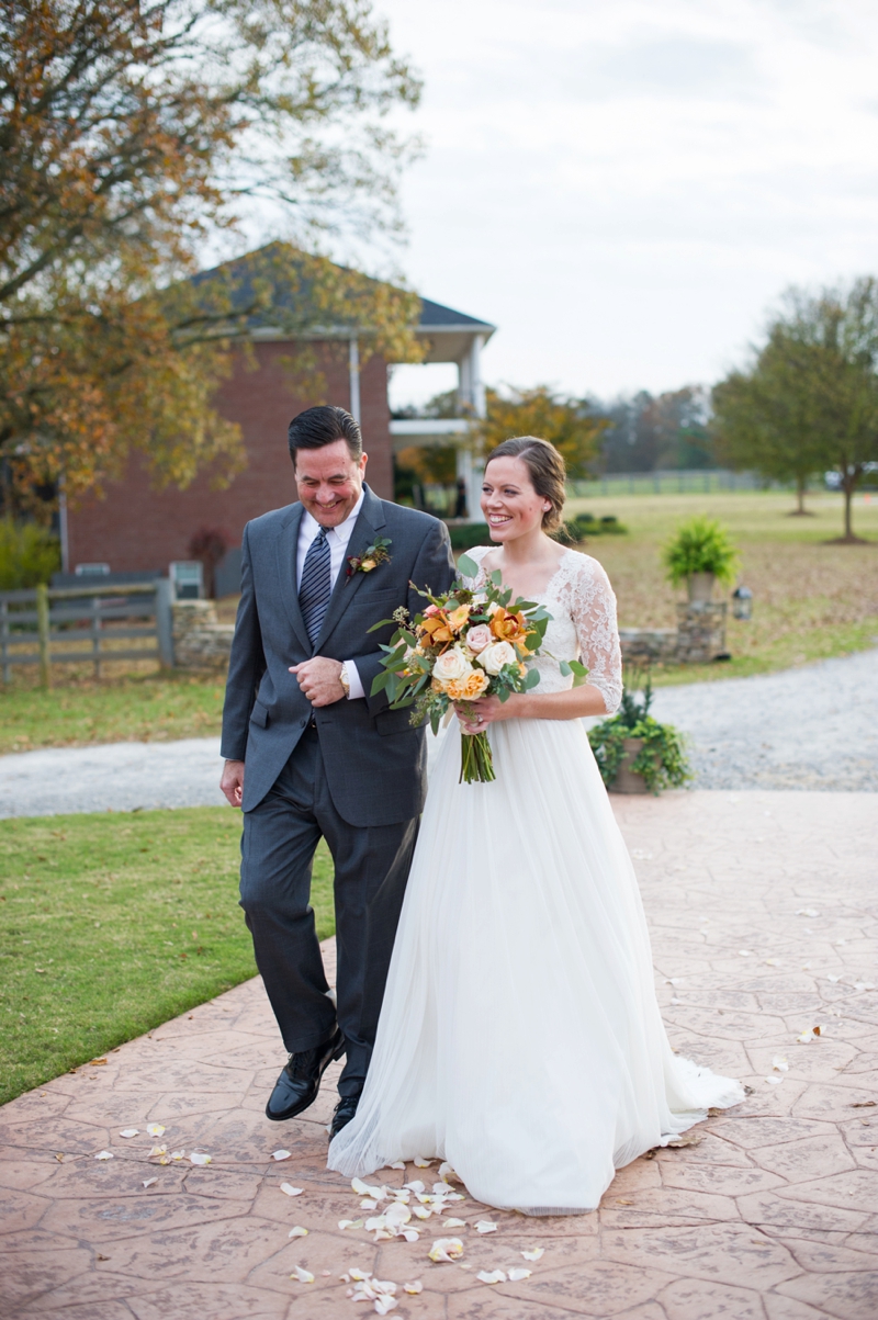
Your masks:
M 539 436 L 562 455 L 568 474 L 586 477 L 586 465 L 597 455 L 607 422 L 594 417 L 580 399 L 556 395 L 548 385 L 532 389 L 486 391 L 487 417 L 475 424 L 490 453 L 512 436 Z

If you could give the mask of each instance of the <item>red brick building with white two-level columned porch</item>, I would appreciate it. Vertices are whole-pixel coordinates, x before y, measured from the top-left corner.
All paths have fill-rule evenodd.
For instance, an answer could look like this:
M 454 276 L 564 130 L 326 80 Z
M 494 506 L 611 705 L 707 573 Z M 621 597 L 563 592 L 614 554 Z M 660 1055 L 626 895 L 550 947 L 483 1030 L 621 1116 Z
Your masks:
M 461 413 L 483 412 L 479 354 L 494 326 L 426 300 L 421 304 L 417 334 L 426 341 L 425 362 L 456 362 L 459 371 Z M 296 499 L 293 470 L 287 450 L 290 417 L 318 401 L 297 388 L 284 371 L 289 337 L 271 326 L 252 330 L 256 370 L 240 354 L 231 378 L 217 396 L 218 411 L 240 425 L 247 462 L 224 490 L 211 490 L 210 470 L 186 490 L 156 490 L 147 465 L 132 458 L 124 477 L 108 484 L 103 499 L 88 499 L 62 516 L 65 570 L 81 564 L 106 564 L 118 572 L 168 573 L 168 565 L 189 558 L 189 543 L 201 528 L 220 528 L 232 549 L 218 573 L 218 594 L 236 589 L 244 524 L 271 508 Z M 368 358 L 360 370 L 358 341 L 350 331 L 309 339 L 323 378 L 325 400 L 349 408 L 363 429 L 370 455 L 367 480 L 384 499 L 393 496 L 393 447 L 413 444 L 457 444 L 458 471 L 474 492 L 477 474 L 467 445 L 467 422 L 391 422 L 387 399 L 388 363 Z M 470 498 L 470 507 L 478 502 Z

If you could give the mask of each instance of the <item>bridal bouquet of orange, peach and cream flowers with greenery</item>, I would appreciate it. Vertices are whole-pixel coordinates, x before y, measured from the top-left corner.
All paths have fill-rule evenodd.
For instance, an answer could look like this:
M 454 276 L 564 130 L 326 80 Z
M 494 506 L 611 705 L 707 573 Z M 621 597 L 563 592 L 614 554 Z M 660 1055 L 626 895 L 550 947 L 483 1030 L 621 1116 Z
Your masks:
M 458 570 L 469 578 L 478 576 L 478 565 L 466 556 Z M 389 645 L 382 647 L 387 652 L 384 672 L 372 681 L 372 696 L 386 690 L 391 710 L 413 705 L 412 723 L 429 719 L 436 734 L 452 705 L 466 708 L 485 696 L 507 701 L 511 692 L 528 692 L 540 681 L 525 660 L 540 653 L 552 615 L 533 601 L 512 601 L 512 591 L 500 589 L 499 572 L 477 591 L 458 578 L 445 595 L 419 595 L 429 605 L 412 622 L 401 607 L 392 619 L 370 628 L 399 624 Z M 466 735 L 461 781 L 487 784 L 492 779 L 487 733 Z

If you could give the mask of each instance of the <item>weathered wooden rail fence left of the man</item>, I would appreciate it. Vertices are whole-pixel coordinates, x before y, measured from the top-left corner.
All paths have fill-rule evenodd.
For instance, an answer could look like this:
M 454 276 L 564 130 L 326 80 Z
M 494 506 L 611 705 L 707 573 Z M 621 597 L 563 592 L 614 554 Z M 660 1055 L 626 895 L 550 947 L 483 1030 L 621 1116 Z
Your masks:
M 125 642 L 137 644 L 120 645 Z M 91 664 L 99 678 L 103 665 L 118 660 L 173 664 L 166 578 L 0 591 L 4 682 L 9 682 L 13 665 L 40 665 L 40 681 L 50 688 L 54 664 Z

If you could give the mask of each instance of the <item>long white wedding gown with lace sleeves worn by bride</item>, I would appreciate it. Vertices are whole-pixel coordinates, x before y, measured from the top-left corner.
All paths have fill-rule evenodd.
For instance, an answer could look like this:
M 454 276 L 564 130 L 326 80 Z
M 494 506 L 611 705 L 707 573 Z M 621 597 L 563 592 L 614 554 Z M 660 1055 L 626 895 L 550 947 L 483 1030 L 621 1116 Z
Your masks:
M 543 603 L 553 659 L 535 661 L 536 690 L 570 686 L 557 661 L 578 655 L 615 710 L 615 598 L 601 565 L 565 552 Z M 362 1176 L 437 1156 L 489 1205 L 590 1210 L 614 1170 L 743 1090 L 671 1052 L 634 869 L 582 722 L 491 725 L 492 784 L 458 783 L 459 742 L 454 721 L 366 1088 L 329 1167 Z

